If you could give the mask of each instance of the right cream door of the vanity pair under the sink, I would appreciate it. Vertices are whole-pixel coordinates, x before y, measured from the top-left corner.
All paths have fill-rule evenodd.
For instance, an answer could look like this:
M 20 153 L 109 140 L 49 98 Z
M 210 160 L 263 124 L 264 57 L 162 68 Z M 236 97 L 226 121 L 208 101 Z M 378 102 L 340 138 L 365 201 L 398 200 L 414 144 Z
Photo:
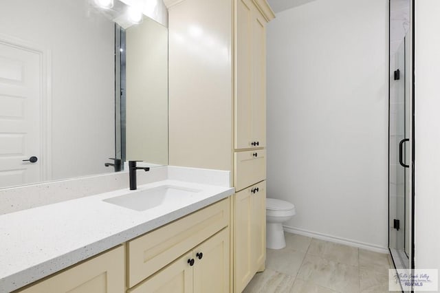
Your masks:
M 225 228 L 193 250 L 195 293 L 229 292 L 229 246 L 229 228 Z

